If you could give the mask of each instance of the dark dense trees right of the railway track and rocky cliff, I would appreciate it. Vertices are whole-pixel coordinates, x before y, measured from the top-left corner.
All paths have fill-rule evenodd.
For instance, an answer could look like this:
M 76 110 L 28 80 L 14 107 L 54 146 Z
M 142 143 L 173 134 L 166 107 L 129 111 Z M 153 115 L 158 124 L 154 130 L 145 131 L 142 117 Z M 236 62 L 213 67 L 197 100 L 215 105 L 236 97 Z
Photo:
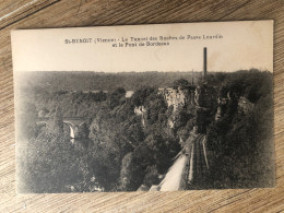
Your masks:
M 210 76 L 210 83 L 223 82 L 220 96 L 230 94 L 224 116 L 208 128 L 214 188 L 273 186 L 273 79 L 269 72 L 240 71 Z M 222 81 L 220 81 L 222 80 Z M 253 104 L 253 110 L 238 108 L 240 96 Z

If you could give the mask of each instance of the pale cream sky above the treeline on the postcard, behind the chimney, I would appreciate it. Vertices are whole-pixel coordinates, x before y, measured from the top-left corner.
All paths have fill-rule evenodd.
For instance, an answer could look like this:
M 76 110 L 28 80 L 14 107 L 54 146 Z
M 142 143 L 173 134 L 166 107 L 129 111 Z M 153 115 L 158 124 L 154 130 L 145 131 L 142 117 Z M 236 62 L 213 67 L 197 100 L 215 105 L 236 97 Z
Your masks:
M 202 71 L 204 47 L 209 72 L 273 71 L 273 21 L 16 29 L 11 38 L 15 72 Z

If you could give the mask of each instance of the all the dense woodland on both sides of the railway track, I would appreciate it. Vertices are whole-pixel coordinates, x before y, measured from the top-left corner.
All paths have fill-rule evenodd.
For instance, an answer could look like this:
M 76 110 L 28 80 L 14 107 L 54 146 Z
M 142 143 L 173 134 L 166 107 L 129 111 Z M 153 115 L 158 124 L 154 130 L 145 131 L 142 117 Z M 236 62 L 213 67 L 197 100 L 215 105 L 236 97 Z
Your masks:
M 167 106 L 164 95 L 157 91 L 158 83 L 163 80 L 164 87 L 187 88 L 191 76 L 180 79 L 180 73 L 176 76 L 157 72 L 138 74 L 142 76 L 138 87 L 131 87 L 137 73 L 87 73 L 84 84 L 80 81 L 86 78 L 79 73 L 48 73 L 45 82 L 42 74 L 31 74 L 37 78 L 35 82 L 31 82 L 29 75 L 21 76 L 31 84 L 23 84 L 17 92 L 22 130 L 17 138 L 23 151 L 19 171 L 25 182 L 20 186 L 22 190 L 130 191 L 142 184 L 151 187 L 159 182 L 159 175 L 167 171 L 190 131 L 201 122 L 199 131 L 206 134 L 213 156 L 206 180 L 211 187 L 258 186 L 269 179 L 262 174 L 273 169 L 265 164 L 271 159 L 273 135 L 269 72 L 213 73 L 199 82 L 196 78 L 201 91 L 214 92 L 218 97 L 230 94 L 230 102 L 223 107 L 218 120 L 214 119 L 217 100 L 213 95 L 200 100 L 210 103 L 204 104 L 210 108 L 205 113 L 190 102 L 176 111 Z M 66 81 L 61 83 L 63 76 Z M 171 76 L 170 81 L 166 76 Z M 92 92 L 96 90 L 100 92 Z M 127 90 L 134 91 L 129 98 Z M 253 110 L 248 114 L 238 108 L 242 96 L 253 104 Z M 135 114 L 141 106 L 145 111 Z M 38 117 L 47 118 L 47 123 L 36 123 Z M 70 141 L 69 126 L 63 122 L 66 117 L 82 118 L 80 139 Z M 175 128 L 168 127 L 170 119 L 175 119 Z

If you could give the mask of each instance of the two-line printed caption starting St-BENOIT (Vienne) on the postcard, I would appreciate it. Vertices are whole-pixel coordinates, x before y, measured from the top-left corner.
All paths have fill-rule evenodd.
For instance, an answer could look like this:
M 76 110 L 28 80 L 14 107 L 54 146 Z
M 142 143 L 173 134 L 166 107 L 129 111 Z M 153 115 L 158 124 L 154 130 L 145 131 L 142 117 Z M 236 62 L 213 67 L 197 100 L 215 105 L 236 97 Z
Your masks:
M 71 38 L 64 39 L 64 44 L 111 44 L 113 47 L 138 47 L 138 46 L 169 46 L 173 40 L 205 40 L 223 39 L 221 34 L 216 35 L 180 35 L 180 36 L 146 36 L 146 37 L 121 37 L 121 38 Z

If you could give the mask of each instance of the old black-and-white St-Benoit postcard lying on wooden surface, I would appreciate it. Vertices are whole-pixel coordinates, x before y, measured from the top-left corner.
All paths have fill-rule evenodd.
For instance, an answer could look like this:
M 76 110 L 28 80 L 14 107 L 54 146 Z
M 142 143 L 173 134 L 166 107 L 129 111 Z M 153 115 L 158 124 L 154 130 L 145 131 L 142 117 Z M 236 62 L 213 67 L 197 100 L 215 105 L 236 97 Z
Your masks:
M 11 39 L 17 192 L 274 187 L 273 21 Z

